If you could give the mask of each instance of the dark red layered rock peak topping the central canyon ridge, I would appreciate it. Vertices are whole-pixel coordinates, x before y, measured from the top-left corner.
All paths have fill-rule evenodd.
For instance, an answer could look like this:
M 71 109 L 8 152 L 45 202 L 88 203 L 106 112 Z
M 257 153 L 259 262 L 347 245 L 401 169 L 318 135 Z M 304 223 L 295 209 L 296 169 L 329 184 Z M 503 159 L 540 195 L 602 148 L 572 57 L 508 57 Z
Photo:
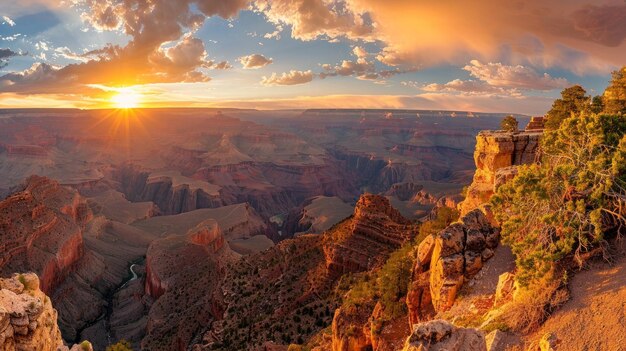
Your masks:
M 380 267 L 389 254 L 411 240 L 417 227 L 380 195 L 365 194 L 354 216 L 324 235 L 326 266 L 335 274 Z

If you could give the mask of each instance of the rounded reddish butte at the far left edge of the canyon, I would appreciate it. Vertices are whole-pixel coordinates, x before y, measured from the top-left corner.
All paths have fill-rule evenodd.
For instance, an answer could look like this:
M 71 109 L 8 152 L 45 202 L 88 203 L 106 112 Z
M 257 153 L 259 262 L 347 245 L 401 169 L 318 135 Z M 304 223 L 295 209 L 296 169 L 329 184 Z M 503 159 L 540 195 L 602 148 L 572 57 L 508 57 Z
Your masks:
M 28 178 L 24 190 L 0 202 L 0 271 L 35 271 L 51 293 L 83 256 L 83 229 L 92 217 L 77 191 Z

